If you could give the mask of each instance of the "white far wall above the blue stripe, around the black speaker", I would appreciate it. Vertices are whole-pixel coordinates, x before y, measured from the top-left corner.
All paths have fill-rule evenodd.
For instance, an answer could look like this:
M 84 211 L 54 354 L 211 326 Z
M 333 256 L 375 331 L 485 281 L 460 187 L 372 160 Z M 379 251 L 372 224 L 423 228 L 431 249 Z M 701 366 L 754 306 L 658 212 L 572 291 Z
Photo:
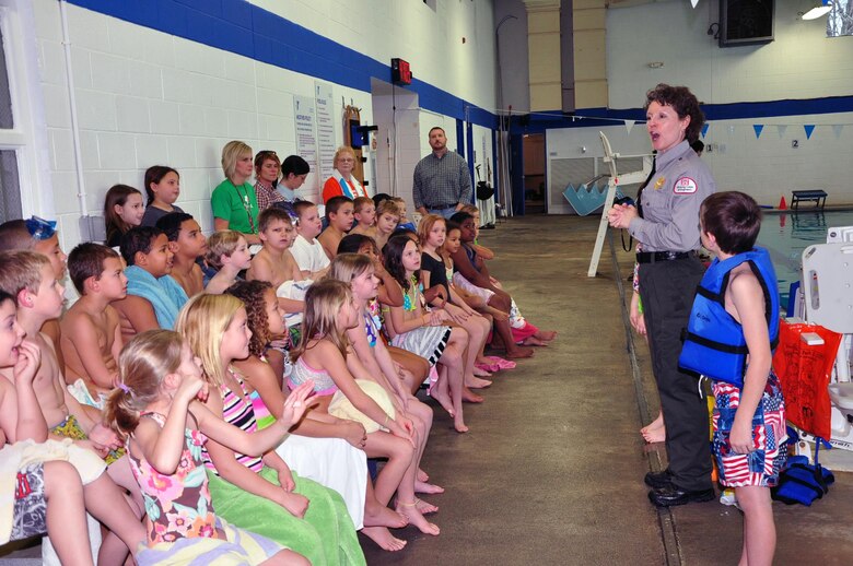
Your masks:
M 804 21 L 807 0 L 775 2 L 774 40 L 720 48 L 706 34 L 718 2 L 663 0 L 607 11 L 611 108 L 635 108 L 659 82 L 689 85 L 704 103 L 820 98 L 853 93 L 853 37 L 826 37 L 826 17 Z M 648 62 L 662 61 L 662 69 Z

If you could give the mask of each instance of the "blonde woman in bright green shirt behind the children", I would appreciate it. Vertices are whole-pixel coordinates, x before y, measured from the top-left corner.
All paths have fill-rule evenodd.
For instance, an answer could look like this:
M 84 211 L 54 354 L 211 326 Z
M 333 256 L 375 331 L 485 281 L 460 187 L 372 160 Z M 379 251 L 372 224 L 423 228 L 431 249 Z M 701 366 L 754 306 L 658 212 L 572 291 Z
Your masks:
M 248 244 L 260 244 L 258 238 L 258 200 L 255 187 L 248 182 L 254 172 L 252 148 L 242 141 L 230 141 L 222 148 L 222 172 L 225 180 L 213 189 L 210 205 L 213 209 L 213 229 L 239 232 Z

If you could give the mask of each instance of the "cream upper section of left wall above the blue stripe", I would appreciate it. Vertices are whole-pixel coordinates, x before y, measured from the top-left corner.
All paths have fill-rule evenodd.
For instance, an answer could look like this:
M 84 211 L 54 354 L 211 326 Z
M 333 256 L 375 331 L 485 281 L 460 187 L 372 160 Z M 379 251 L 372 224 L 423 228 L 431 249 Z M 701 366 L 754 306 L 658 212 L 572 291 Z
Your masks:
M 495 107 L 492 0 L 436 0 L 435 10 L 419 0 L 250 1 L 384 64 L 402 58 L 416 79 Z

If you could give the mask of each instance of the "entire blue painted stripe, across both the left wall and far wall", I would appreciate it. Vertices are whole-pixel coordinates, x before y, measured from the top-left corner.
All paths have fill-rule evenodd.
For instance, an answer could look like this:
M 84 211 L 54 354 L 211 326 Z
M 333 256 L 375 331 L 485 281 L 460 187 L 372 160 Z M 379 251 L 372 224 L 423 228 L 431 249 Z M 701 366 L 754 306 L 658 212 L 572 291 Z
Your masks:
M 68 1 L 105 15 L 364 92 L 371 92 L 373 76 L 388 82 L 390 80 L 389 64 L 245 0 Z M 424 81 L 416 78 L 409 89 L 418 94 L 422 108 L 484 128 L 498 127 L 496 116 L 491 111 Z M 712 104 L 704 105 L 703 110 L 709 120 L 834 114 L 853 111 L 853 96 Z M 642 108 L 585 108 L 577 114 L 610 120 L 645 119 Z M 512 131 L 536 133 L 551 128 L 614 126 L 612 121 L 593 118 L 572 122 L 560 110 L 552 110 L 530 115 L 527 126 L 521 126 L 523 117 L 516 116 L 513 118 Z

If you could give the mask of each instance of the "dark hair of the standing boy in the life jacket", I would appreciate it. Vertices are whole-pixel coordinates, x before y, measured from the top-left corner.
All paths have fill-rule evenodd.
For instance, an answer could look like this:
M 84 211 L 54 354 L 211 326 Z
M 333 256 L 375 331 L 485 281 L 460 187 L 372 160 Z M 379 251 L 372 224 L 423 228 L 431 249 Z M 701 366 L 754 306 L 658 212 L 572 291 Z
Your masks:
M 751 250 L 761 229 L 761 208 L 749 194 L 737 191 L 716 192 L 699 210 L 702 229 L 713 234 L 726 253 Z

